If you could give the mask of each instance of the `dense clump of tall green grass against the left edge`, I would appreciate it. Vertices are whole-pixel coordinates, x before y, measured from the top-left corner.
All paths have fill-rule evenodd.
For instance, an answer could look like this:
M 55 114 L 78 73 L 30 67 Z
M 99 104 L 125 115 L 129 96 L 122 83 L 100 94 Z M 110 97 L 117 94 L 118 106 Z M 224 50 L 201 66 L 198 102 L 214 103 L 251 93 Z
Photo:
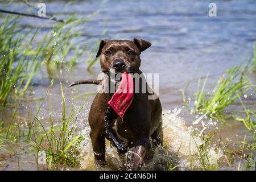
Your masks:
M 29 60 L 24 59 L 20 47 L 26 35 L 19 38 L 14 37 L 22 31 L 16 28 L 19 19 L 11 19 L 9 16 L 0 24 L 0 104 L 5 105 L 7 97 L 18 89 L 18 81 L 22 77 L 27 77 L 24 74 L 29 66 Z

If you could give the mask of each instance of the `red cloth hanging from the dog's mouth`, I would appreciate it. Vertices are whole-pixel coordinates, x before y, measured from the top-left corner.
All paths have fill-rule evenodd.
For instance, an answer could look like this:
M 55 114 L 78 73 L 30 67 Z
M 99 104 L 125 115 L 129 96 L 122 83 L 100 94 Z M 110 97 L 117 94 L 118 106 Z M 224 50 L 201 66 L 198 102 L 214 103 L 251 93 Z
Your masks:
M 112 107 L 112 109 L 115 111 L 115 113 L 117 113 L 119 117 L 123 118 L 123 115 L 131 105 L 133 98 L 133 76 L 126 72 L 122 73 L 121 83 L 108 104 Z

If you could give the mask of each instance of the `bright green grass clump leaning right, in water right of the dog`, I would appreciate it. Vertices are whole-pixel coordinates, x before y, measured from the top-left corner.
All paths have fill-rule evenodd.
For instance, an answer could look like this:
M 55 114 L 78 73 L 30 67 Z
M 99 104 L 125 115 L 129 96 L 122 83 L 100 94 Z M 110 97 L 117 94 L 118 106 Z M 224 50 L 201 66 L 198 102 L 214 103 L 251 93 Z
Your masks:
M 201 89 L 201 79 L 199 78 L 197 93 L 195 94 L 196 111 L 207 113 L 210 118 L 225 122 L 225 108 L 237 100 L 238 92 L 243 94 L 250 89 L 249 80 L 244 78 L 243 71 L 239 67 L 232 67 L 228 69 L 226 75 L 218 80 L 212 93 L 208 96 L 205 92 L 208 76 L 205 78 Z

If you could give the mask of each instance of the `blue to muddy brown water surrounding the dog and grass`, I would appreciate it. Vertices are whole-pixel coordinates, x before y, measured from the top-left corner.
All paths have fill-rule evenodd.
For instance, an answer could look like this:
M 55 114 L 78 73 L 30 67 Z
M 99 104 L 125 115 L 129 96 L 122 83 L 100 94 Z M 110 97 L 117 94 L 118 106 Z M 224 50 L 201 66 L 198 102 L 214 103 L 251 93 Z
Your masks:
M 81 39 L 84 40 L 85 45 L 95 43 L 105 28 L 108 28 L 108 33 L 104 38 L 133 39 L 138 37 L 152 43 L 152 46 L 141 55 L 141 70 L 144 73 L 159 73 L 159 97 L 163 109 L 166 110 L 164 141 L 167 143 L 168 150 L 173 153 L 178 151 L 181 143 L 179 151 L 180 169 L 189 168 L 188 153 L 190 147 L 188 141 L 191 139 L 189 135 L 191 127 L 198 130 L 198 133 L 202 130 L 207 133 L 217 130 L 213 141 L 217 142 L 221 137 L 226 148 L 241 148 L 241 141 L 245 135 L 247 142 L 254 140 L 253 132 L 247 131 L 239 122 L 230 119 L 227 125 L 221 125 L 220 122 L 211 121 L 209 118 L 202 117 L 197 120 L 201 115 L 195 117 L 187 107 L 183 108 L 183 97 L 180 89 L 185 89 L 185 99 L 191 100 L 188 102 L 188 106 L 192 106 L 193 93 L 196 91 L 199 77 L 205 77 L 209 72 L 206 88 L 210 88 L 216 84 L 226 69 L 233 65 L 245 63 L 253 52 L 252 46 L 256 39 L 256 2 L 214 2 L 217 5 L 217 17 L 208 16 L 210 1 L 78 1 L 66 7 L 65 1 L 46 2 L 47 13 L 56 14 L 58 18 L 67 18 L 72 13 L 84 17 L 96 10 L 100 11 L 84 27 L 86 36 Z M 12 3 L 10 10 L 15 7 L 18 7 L 18 3 Z M 24 7 L 26 6 L 19 6 L 17 10 L 22 11 Z M 24 18 L 22 24 L 39 27 L 42 21 Z M 68 101 L 67 110 L 70 109 L 68 103 L 71 103 L 72 90 L 67 88 L 68 84 L 81 78 L 97 77 L 100 73 L 99 64 L 93 67 L 92 72 L 86 72 L 86 55 L 88 53 L 77 60 L 79 64 L 74 69 L 63 69 L 62 72 L 58 72 L 54 76 L 63 82 L 65 97 Z M 255 84 L 256 75 L 250 75 L 250 77 Z M 35 94 L 32 97 L 43 97 L 50 82 L 46 72 L 38 73 L 33 82 L 36 85 L 34 86 Z M 188 82 L 190 84 L 185 88 Z M 97 87 L 94 85 L 82 85 L 74 88 L 73 93 L 80 95 L 86 92 L 96 92 L 96 90 Z M 211 89 L 209 89 L 210 91 Z M 58 81 L 55 81 L 51 94 L 53 117 L 60 119 L 61 94 Z M 88 104 L 80 115 L 80 124 L 77 125 L 81 127 L 86 138 L 82 147 L 88 153 L 81 161 L 81 168 L 79 169 L 95 169 L 88 136 L 89 128 L 86 123 L 93 96 L 76 98 L 75 104 L 80 106 L 87 99 Z M 247 94 L 247 98 L 244 98 L 246 105 L 254 108 L 255 99 L 255 93 L 251 91 Z M 30 109 L 33 110 L 35 104 L 35 101 L 23 102 L 18 111 L 19 115 L 26 117 L 26 107 L 30 105 Z M 175 108 L 177 110 L 174 110 Z M 232 107 L 232 111 L 241 109 L 242 107 L 238 103 Z M 48 101 L 44 103 L 40 115 L 46 119 L 47 125 Z M 9 121 L 8 118 L 9 114 L 3 114 L 6 125 Z M 199 138 L 197 142 L 201 142 Z M 29 146 L 24 142 L 21 143 L 22 146 Z M 225 148 L 221 150 L 225 150 Z M 6 169 L 10 170 L 36 169 L 34 156 L 26 152 L 26 150 L 21 150 L 14 157 L 5 156 L 2 163 L 9 164 Z M 254 152 L 255 155 L 255 151 L 247 152 Z M 119 161 L 114 149 L 108 148 L 107 153 L 109 165 L 105 169 L 117 169 Z M 17 166 L 18 158 L 20 158 L 19 167 Z M 157 163 L 156 160 L 165 160 L 166 162 L 166 151 L 159 151 L 158 156 L 155 155 L 154 161 L 143 169 L 152 168 L 154 166 L 152 163 Z M 237 169 L 239 159 L 236 158 L 230 166 L 225 159 L 220 160 L 220 162 L 220 169 L 233 170 Z M 242 164 L 244 163 L 245 160 L 242 160 Z M 199 166 L 199 163 L 195 165 Z M 159 168 L 163 169 L 163 166 L 160 165 Z

